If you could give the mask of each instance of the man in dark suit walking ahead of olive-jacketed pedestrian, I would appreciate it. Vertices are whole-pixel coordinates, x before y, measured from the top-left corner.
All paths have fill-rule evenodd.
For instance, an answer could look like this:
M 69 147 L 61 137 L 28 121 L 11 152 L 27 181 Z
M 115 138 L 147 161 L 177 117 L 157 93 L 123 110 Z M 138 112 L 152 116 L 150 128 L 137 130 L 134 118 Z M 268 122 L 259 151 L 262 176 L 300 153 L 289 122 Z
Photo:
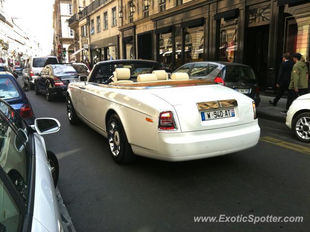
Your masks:
M 290 81 L 291 81 L 291 73 L 294 66 L 294 62 L 291 59 L 290 53 L 283 54 L 283 63 L 280 65 L 279 76 L 277 81 L 277 87 L 279 87 L 279 92 L 275 99 L 269 100 L 269 103 L 273 106 L 276 106 L 279 99 L 283 96 L 285 91 L 288 90 Z

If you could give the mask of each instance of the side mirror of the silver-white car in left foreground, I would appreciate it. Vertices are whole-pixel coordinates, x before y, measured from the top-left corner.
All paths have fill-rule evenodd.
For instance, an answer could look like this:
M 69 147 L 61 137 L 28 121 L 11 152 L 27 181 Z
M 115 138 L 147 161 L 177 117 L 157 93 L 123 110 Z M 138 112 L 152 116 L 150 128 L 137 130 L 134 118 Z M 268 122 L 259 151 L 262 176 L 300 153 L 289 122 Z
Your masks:
M 34 120 L 34 129 L 38 134 L 55 133 L 60 130 L 60 123 L 55 118 L 37 118 Z

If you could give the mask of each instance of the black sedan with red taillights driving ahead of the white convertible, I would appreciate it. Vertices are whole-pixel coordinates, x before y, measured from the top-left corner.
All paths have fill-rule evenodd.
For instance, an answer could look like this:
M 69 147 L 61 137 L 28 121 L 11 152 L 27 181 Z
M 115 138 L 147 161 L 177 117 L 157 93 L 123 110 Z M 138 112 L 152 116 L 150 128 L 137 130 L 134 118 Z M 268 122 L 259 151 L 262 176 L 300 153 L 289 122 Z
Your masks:
M 38 95 L 46 94 L 47 100 L 51 101 L 56 96 L 64 97 L 70 82 L 78 81 L 78 76 L 88 76 L 88 72 L 81 66 L 71 64 L 47 65 L 38 78 L 34 80 L 34 91 Z

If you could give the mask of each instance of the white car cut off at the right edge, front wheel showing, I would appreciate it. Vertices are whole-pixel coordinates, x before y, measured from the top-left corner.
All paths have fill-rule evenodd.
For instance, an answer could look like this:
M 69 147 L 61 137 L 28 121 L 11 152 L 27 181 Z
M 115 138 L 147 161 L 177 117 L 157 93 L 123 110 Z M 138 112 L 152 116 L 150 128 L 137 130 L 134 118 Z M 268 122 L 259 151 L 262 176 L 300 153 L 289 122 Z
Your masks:
M 286 126 L 299 141 L 310 143 L 310 94 L 295 99 L 286 114 Z

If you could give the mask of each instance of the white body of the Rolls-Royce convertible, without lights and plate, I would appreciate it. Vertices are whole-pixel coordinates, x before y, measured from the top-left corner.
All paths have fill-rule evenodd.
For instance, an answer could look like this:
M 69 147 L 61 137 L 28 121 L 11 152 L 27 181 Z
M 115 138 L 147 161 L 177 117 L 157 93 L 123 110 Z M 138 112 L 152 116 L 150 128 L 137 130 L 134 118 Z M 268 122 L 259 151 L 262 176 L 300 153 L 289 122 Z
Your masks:
M 115 111 L 133 152 L 140 156 L 167 161 L 200 159 L 248 149 L 260 136 L 253 100 L 218 84 L 124 89 L 78 82 L 69 84 L 68 94 L 78 117 L 105 137 L 107 113 Z M 234 117 L 202 121 L 196 103 L 226 99 L 237 100 Z M 158 130 L 162 111 L 173 113 L 177 130 Z

